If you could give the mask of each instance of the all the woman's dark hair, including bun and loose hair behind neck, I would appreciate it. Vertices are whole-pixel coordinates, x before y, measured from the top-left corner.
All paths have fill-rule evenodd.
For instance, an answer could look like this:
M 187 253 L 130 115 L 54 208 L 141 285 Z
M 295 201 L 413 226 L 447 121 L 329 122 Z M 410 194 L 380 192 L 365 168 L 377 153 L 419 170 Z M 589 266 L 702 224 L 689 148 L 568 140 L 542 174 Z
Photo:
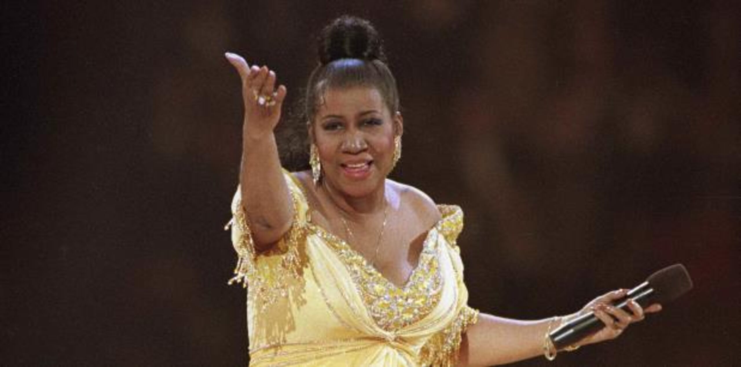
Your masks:
M 293 127 L 282 134 L 281 159 L 286 168 L 308 168 L 308 131 L 323 97 L 331 88 L 373 87 L 388 110 L 399 110 L 396 79 L 389 70 L 383 42 L 371 22 L 356 16 L 340 16 L 322 29 L 316 39 L 318 65 L 311 72 L 305 95 L 291 113 Z

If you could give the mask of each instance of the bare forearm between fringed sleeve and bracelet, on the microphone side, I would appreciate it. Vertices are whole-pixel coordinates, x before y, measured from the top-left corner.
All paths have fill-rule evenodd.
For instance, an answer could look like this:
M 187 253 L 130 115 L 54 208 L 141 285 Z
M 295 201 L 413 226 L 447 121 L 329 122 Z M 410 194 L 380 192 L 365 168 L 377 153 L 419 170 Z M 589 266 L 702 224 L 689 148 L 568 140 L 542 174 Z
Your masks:
M 553 322 L 553 318 L 525 321 L 479 314 L 479 321 L 466 331 L 459 364 L 493 366 L 542 356 L 544 337 Z

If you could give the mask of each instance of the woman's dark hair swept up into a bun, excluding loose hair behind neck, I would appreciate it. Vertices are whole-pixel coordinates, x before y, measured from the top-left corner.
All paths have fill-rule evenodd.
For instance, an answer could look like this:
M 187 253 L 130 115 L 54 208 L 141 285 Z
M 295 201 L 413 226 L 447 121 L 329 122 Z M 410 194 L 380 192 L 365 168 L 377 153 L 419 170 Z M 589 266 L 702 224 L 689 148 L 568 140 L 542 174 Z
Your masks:
M 391 113 L 399 110 L 396 79 L 386 65 L 382 39 L 371 22 L 341 16 L 317 39 L 319 65 L 309 77 L 304 113 L 313 121 L 321 97 L 333 87 L 375 87 Z

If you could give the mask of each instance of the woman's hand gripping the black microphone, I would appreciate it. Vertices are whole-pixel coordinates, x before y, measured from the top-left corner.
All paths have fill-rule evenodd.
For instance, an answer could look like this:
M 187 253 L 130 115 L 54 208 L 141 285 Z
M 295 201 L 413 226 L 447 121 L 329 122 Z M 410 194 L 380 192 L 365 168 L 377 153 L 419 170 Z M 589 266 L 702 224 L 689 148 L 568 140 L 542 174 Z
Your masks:
M 626 294 L 628 294 L 627 289 L 611 291 L 610 293 L 599 296 L 587 303 L 581 311 L 577 312 L 573 316 L 567 317 L 566 320 L 564 320 L 564 323 L 568 323 L 569 320 L 573 320 L 582 314 L 594 312 L 594 316 L 599 320 L 602 320 L 602 323 L 605 323 L 605 327 L 597 331 L 597 333 L 579 340 L 576 345 L 572 346 L 587 345 L 615 339 L 625 331 L 625 328 L 628 328 L 628 325 L 643 320 L 645 314 L 652 314 L 661 311 L 661 305 L 658 303 L 650 305 L 647 308 L 642 308 L 638 302 L 632 299 L 628 300 L 628 308 L 630 308 L 630 312 L 615 307 L 613 305 L 614 301 L 625 297 Z

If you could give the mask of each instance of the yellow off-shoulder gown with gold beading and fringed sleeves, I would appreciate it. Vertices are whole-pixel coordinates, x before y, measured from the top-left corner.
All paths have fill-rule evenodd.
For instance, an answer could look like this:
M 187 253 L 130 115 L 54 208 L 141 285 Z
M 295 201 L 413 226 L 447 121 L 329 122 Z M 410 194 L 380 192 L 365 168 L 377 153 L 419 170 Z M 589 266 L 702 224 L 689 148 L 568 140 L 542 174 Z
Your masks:
M 247 290 L 250 366 L 452 366 L 468 325 L 456 237 L 463 213 L 438 205 L 419 264 L 403 287 L 386 280 L 347 242 L 310 220 L 301 184 L 284 172 L 293 224 L 275 248 L 256 253 L 239 189 L 230 283 Z

